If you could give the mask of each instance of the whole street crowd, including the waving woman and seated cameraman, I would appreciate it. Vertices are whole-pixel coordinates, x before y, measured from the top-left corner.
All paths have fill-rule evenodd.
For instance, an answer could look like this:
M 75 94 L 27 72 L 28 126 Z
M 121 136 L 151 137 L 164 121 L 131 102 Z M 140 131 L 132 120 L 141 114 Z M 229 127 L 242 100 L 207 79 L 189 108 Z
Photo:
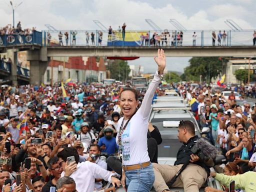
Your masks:
M 169 181 L 186 163 L 172 187 L 197 191 L 213 176 L 226 187 L 235 180 L 240 191 L 256 190 L 250 179 L 256 175 L 256 108 L 244 99 L 237 104 L 233 92 L 242 98 L 243 85 L 231 86 L 226 98 L 204 84 L 170 84 L 191 106 L 199 127 L 209 127 L 206 137 L 212 151 L 228 161 L 224 174 L 210 172 L 213 156 L 200 159 L 190 150 L 199 137 L 188 120 L 178 125 L 183 144 L 174 165 L 158 164 L 157 144 L 162 139 L 148 120 L 153 96 L 164 95 L 164 86 L 158 86 L 165 67 L 163 50 L 158 50 L 155 62 L 158 69 L 147 91 L 120 82 L 2 87 L 1 191 L 93 191 L 107 182 L 127 191 L 149 191 L 152 186 L 157 192 L 170 191 Z

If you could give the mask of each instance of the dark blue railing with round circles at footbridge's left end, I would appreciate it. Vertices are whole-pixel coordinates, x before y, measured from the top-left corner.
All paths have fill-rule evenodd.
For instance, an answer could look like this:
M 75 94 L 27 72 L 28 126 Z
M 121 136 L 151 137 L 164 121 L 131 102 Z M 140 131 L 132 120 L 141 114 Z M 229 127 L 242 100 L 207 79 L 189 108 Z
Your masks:
M 39 31 L 33 31 L 29 35 L 24 34 L 4 34 L 0 35 L 0 45 L 17 44 L 42 44 L 42 34 Z

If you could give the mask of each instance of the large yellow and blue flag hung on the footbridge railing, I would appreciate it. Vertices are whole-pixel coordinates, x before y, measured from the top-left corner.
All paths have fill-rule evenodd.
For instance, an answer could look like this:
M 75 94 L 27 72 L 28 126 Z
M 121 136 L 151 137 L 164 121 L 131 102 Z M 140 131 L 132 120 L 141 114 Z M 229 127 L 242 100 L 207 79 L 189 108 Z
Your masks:
M 122 38 L 122 32 L 120 34 L 115 31 L 112 34 L 111 40 L 107 41 L 107 46 L 140 46 L 142 44 L 141 36 L 146 36 L 148 31 L 125 31 L 124 39 Z

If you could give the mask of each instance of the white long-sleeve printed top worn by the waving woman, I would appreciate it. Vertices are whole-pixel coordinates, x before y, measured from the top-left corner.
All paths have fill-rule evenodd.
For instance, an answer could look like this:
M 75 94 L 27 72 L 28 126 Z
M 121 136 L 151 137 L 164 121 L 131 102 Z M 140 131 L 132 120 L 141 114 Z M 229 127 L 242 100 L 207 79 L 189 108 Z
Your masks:
M 147 126 L 150 107 L 154 92 L 160 82 L 160 76 L 156 72 L 152 82 L 149 84 L 140 108 L 132 116 L 121 135 L 122 163 L 124 165 L 139 164 L 149 161 L 147 152 Z M 118 132 L 124 117 L 118 120 L 115 138 L 118 145 Z M 124 120 L 123 126 L 127 120 Z

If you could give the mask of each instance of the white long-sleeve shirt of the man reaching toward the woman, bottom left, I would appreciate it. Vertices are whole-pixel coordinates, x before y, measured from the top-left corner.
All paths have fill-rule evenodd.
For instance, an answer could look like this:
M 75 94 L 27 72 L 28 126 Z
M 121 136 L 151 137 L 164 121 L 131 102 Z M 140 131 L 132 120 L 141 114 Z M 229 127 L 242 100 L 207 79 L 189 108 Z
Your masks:
M 70 177 L 75 181 L 75 188 L 77 192 L 92 192 L 94 190 L 95 178 L 102 178 L 111 182 L 111 176 L 117 175 L 108 170 L 101 168 L 96 163 L 86 160 L 77 164 L 77 170 L 74 171 Z M 64 171 L 61 177 L 64 176 Z

